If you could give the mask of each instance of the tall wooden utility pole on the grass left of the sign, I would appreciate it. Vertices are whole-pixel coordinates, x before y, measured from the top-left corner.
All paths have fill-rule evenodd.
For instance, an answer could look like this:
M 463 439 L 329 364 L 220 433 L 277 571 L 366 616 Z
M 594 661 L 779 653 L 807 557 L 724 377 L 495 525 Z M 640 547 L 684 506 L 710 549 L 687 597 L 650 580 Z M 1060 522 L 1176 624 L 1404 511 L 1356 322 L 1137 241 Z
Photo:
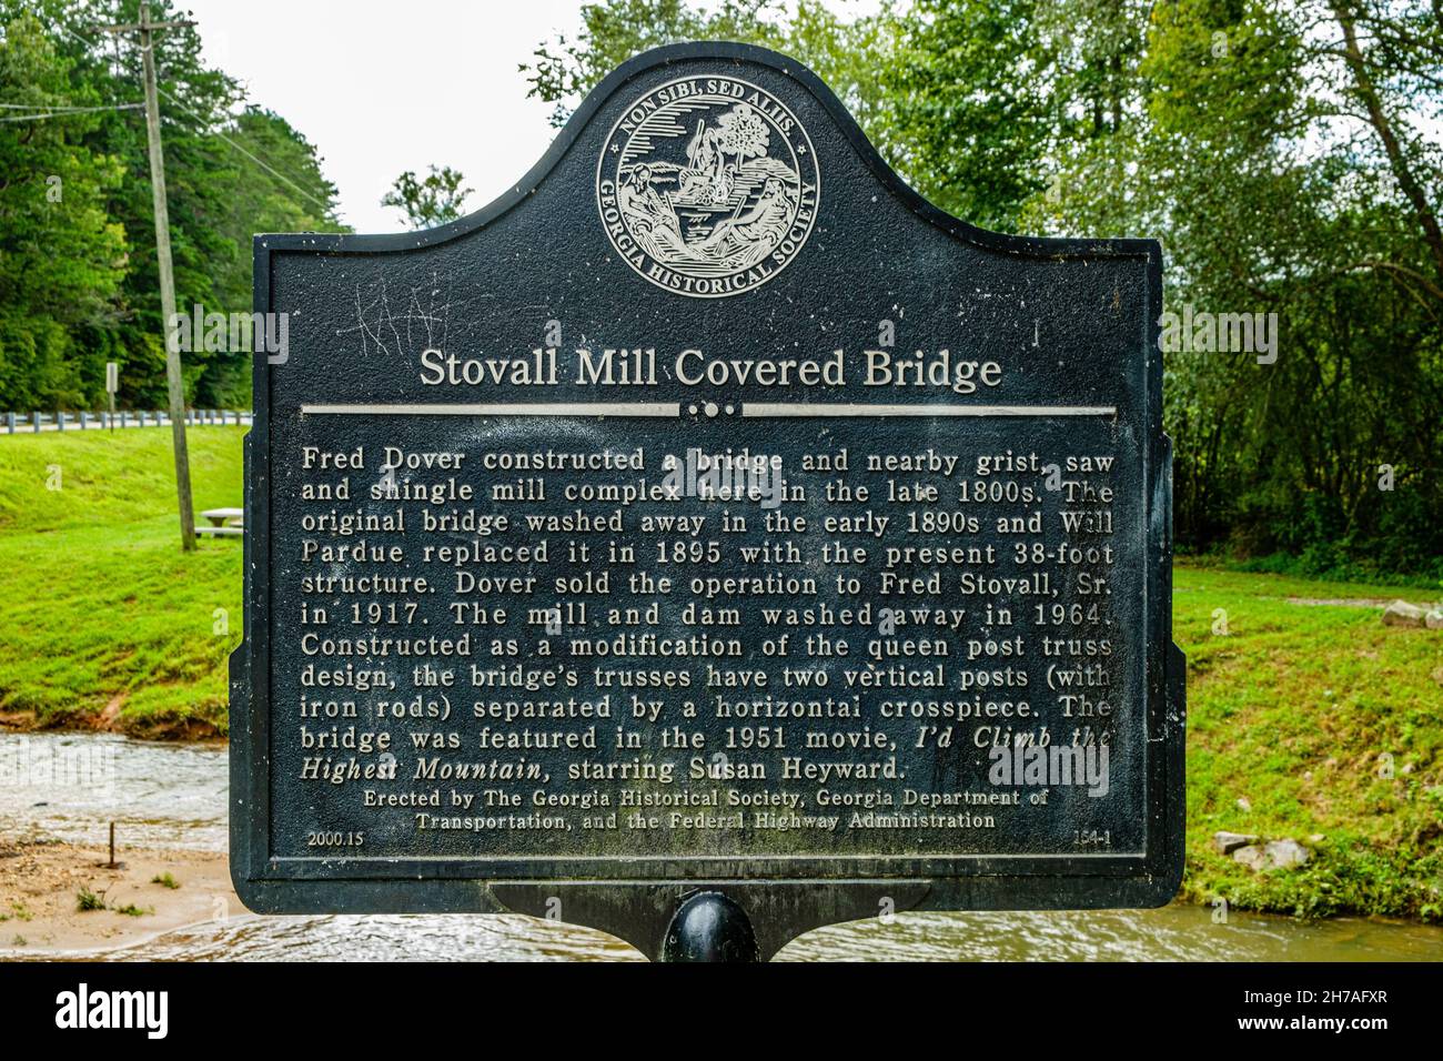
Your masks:
M 176 498 L 180 504 L 180 549 L 195 549 L 195 508 L 190 504 L 190 456 L 185 442 L 185 384 L 175 335 L 176 281 L 170 264 L 170 212 L 166 209 L 166 162 L 160 150 L 160 104 L 156 100 L 154 30 L 193 26 L 193 22 L 152 22 L 149 0 L 140 0 L 140 22 L 105 26 L 108 33 L 140 33 L 146 72 L 146 131 L 150 140 L 150 193 L 156 211 L 156 257 L 160 264 L 160 326 L 166 336 L 166 390 L 170 396 L 170 442 L 176 456 Z

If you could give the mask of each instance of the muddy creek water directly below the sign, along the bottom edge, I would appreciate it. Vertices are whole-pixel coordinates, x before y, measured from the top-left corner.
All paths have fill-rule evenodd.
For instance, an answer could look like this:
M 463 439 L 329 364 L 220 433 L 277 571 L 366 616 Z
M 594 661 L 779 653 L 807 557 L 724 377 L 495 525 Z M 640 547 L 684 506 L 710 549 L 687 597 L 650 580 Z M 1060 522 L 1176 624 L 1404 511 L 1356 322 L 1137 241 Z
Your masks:
M 527 917 L 245 917 L 170 933 L 117 957 L 349 961 L 641 960 L 602 933 Z M 1300 925 L 1201 907 L 1062 914 L 908 914 L 833 925 L 789 944 L 786 961 L 1368 961 L 1440 960 L 1436 928 L 1341 920 Z

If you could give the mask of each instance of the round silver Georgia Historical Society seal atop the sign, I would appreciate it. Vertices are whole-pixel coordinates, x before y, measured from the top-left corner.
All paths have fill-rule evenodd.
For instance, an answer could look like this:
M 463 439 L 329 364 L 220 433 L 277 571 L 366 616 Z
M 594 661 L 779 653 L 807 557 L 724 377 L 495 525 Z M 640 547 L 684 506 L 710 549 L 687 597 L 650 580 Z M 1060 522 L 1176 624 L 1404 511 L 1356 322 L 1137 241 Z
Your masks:
M 626 108 L 602 146 L 596 205 L 626 263 L 677 294 L 758 287 L 797 257 L 821 175 L 807 130 L 747 81 L 696 77 Z

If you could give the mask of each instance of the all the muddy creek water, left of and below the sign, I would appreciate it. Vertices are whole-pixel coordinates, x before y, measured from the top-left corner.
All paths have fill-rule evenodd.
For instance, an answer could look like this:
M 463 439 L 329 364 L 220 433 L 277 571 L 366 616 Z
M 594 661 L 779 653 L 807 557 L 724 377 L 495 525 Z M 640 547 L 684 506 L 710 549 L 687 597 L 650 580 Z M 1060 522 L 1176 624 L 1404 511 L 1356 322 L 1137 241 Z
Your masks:
M 225 749 L 114 736 L 0 735 L 0 830 L 97 843 L 114 820 L 134 846 L 224 850 Z M 636 960 L 602 933 L 525 917 L 232 917 L 115 953 L 146 959 L 401 961 Z M 1172 905 L 1152 911 L 911 914 L 808 933 L 781 960 L 1443 960 L 1443 928 Z

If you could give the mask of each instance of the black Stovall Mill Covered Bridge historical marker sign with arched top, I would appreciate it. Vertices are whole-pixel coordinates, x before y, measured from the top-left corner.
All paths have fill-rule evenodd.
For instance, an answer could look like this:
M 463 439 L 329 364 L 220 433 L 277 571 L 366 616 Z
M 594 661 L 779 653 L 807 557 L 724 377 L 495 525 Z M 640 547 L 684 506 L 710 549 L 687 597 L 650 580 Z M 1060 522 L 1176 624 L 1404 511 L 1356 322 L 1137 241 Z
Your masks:
M 1160 250 L 994 235 L 815 77 L 609 77 L 440 230 L 263 235 L 232 865 L 264 911 L 771 951 L 1182 870 Z

